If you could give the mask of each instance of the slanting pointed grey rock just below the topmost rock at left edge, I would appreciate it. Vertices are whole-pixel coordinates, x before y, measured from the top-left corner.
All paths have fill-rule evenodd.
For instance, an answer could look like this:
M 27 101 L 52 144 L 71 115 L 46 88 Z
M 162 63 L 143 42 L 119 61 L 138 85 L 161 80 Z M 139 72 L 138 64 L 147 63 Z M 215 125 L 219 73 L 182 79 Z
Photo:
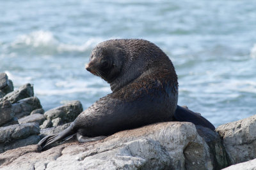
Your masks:
M 11 103 L 16 103 L 21 99 L 25 99 L 28 97 L 34 96 L 33 85 L 27 83 L 26 85 L 22 85 L 19 89 L 7 94 L 3 98 L 0 99 L 0 103 L 3 101 L 10 101 Z

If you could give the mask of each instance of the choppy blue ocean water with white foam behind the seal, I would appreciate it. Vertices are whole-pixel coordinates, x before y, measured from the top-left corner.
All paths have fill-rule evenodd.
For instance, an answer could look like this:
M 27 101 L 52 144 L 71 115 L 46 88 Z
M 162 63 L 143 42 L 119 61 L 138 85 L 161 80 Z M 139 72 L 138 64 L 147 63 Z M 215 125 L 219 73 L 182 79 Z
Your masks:
M 111 92 L 84 69 L 97 43 L 143 38 L 179 76 L 179 105 L 218 126 L 256 114 L 256 1 L 1 1 L 0 72 L 45 110 Z

